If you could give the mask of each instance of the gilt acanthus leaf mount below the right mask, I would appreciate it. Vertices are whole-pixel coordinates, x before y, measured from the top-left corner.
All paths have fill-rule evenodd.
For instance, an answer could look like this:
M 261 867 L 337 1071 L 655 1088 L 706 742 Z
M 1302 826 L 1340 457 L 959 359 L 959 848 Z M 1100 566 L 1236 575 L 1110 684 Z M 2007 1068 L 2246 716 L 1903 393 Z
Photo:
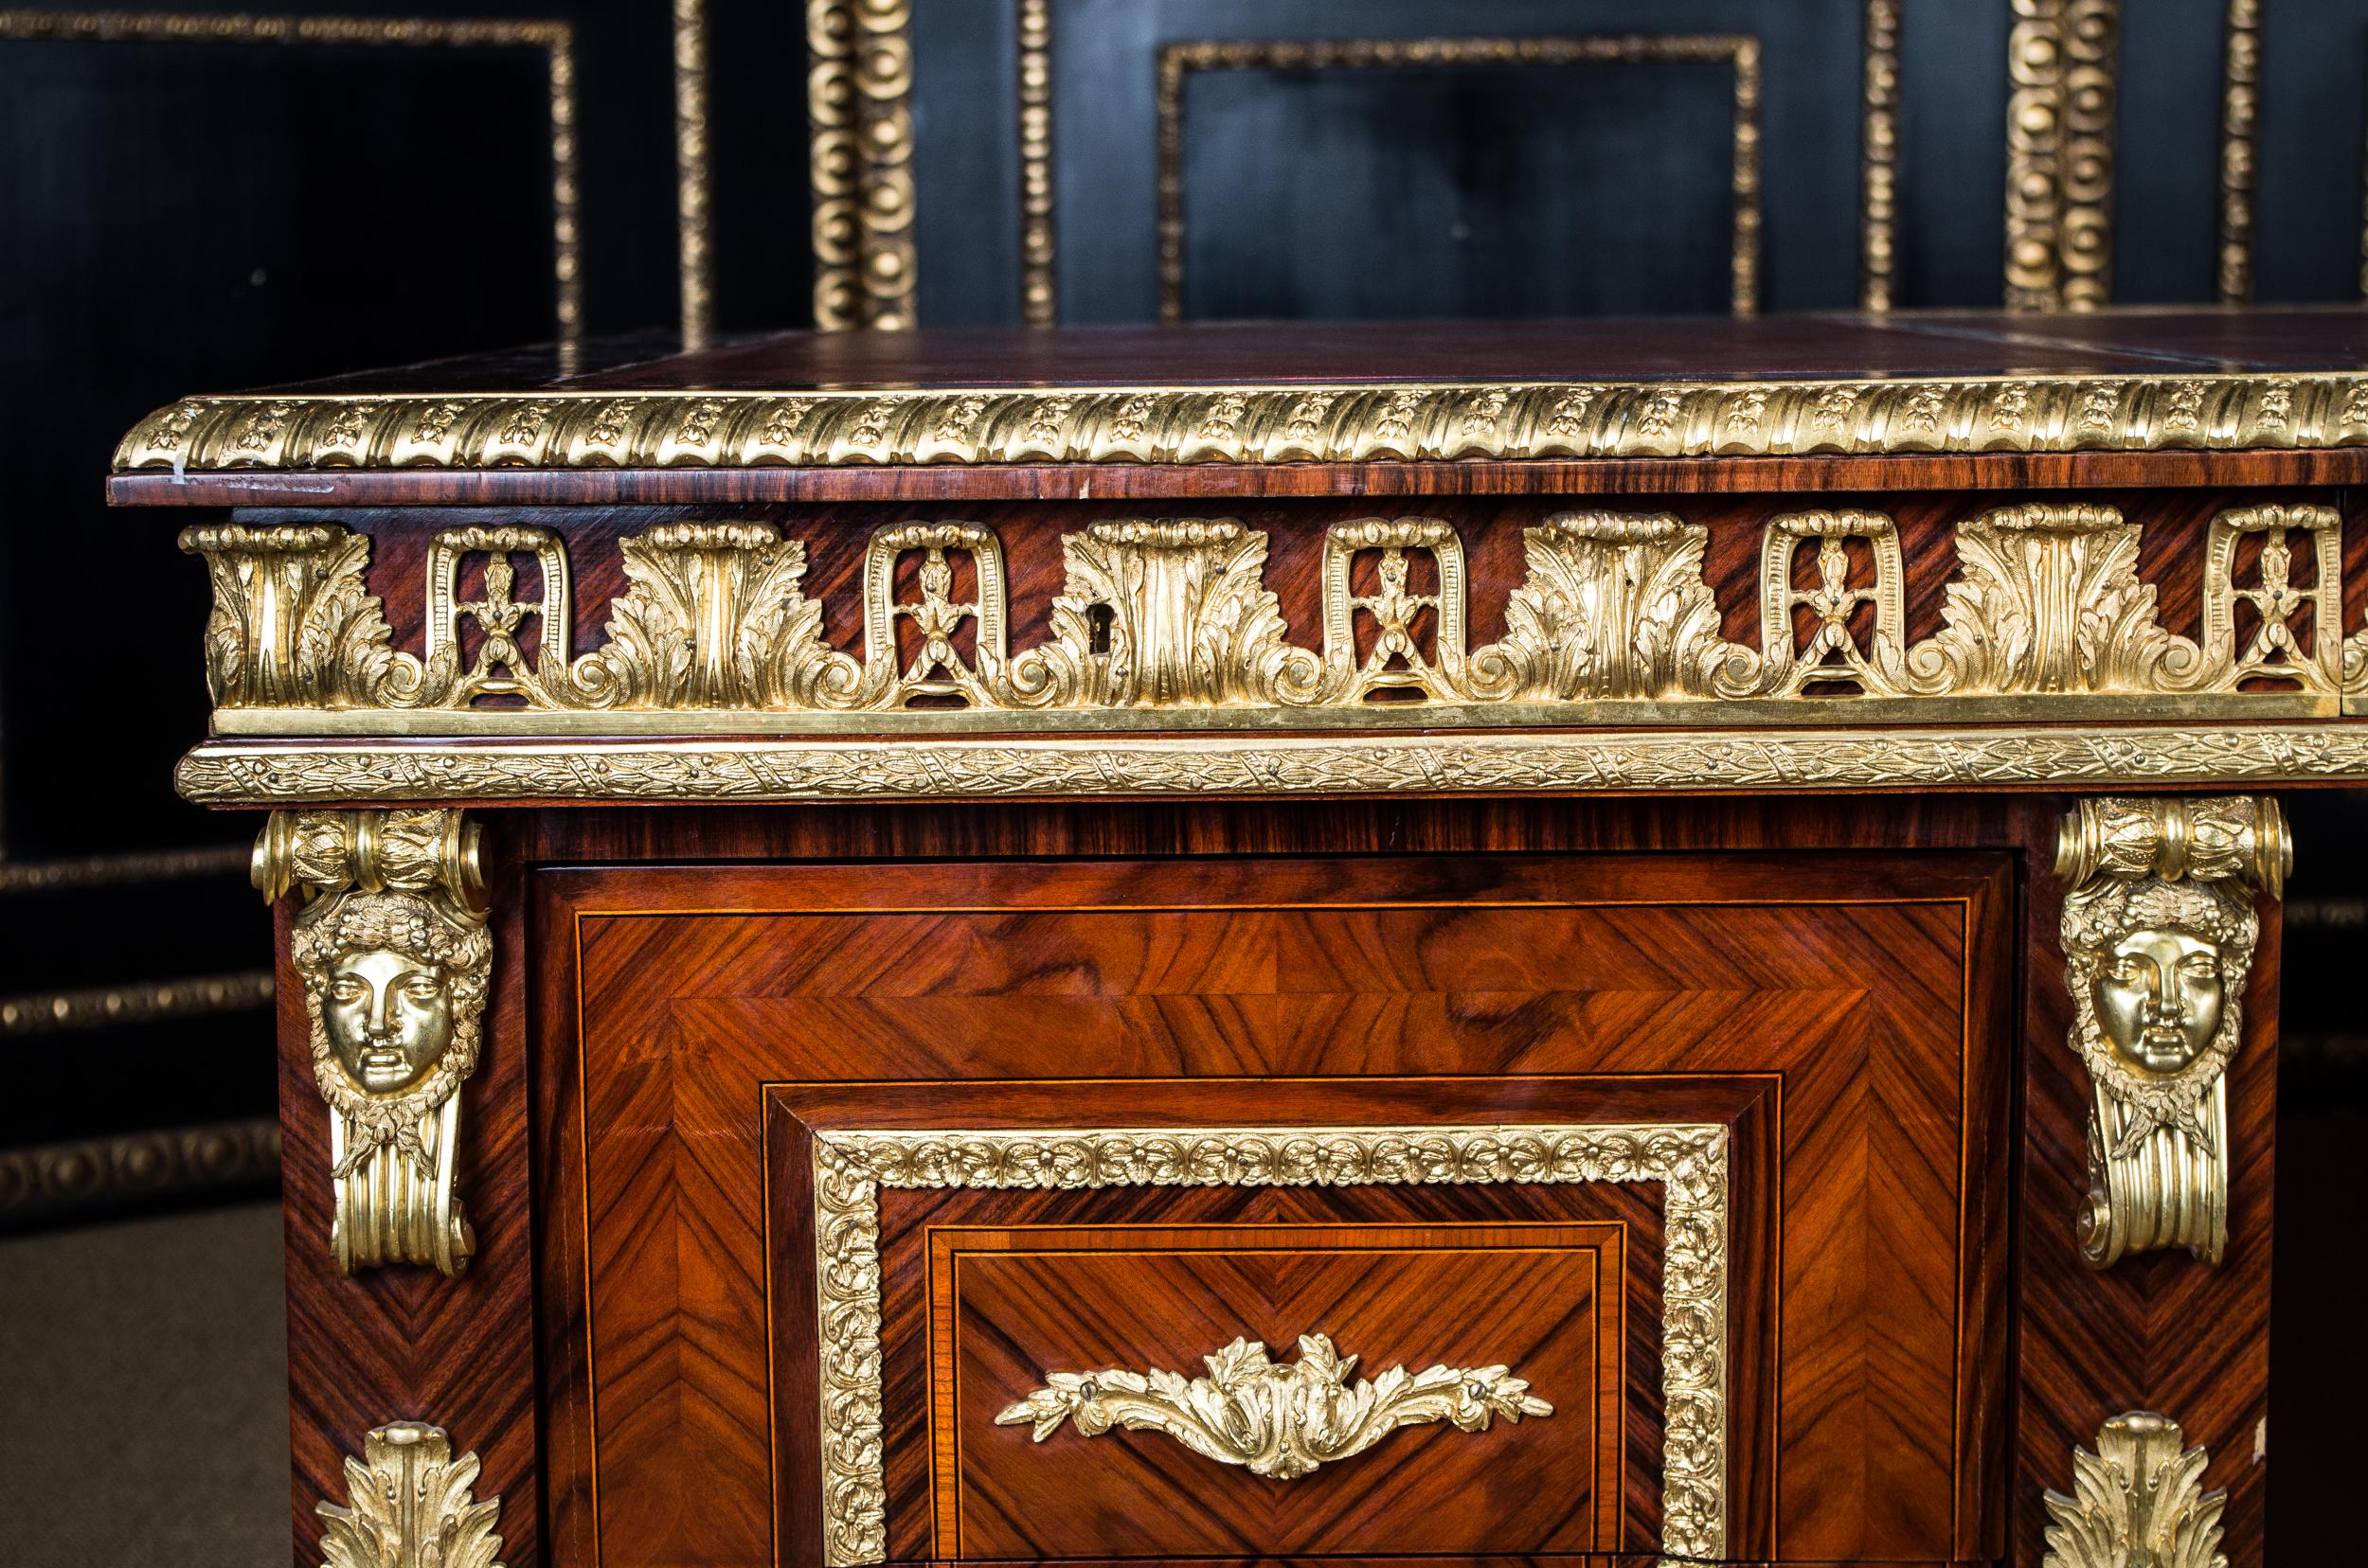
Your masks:
M 2228 1568 L 2228 1492 L 2205 1490 L 2212 1457 L 2186 1442 L 2179 1421 L 2131 1409 L 2105 1421 L 2093 1454 L 2074 1447 L 2072 1495 L 2041 1492 L 2044 1568 Z

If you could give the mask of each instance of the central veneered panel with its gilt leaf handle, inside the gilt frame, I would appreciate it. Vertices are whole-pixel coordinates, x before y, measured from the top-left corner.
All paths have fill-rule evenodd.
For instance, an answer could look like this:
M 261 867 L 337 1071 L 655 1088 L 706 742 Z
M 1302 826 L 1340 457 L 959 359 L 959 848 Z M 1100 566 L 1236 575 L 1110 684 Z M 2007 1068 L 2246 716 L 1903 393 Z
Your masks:
M 1310 1225 L 1291 1191 L 1189 1196 L 1220 1222 L 928 1229 L 928 1556 L 1620 1547 L 1620 1433 L 1658 1407 L 1622 1334 L 1660 1293 L 1627 1265 L 1650 1208 Z

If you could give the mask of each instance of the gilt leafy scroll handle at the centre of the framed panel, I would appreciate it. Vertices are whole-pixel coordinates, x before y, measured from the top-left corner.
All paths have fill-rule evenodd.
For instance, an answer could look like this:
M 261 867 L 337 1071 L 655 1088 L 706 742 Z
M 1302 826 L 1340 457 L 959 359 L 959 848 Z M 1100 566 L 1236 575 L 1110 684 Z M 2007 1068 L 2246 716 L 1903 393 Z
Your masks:
M 1035 1426 L 1042 1442 L 1075 1421 L 1087 1438 L 1113 1426 L 1160 1431 L 1220 1464 L 1246 1464 L 1253 1476 L 1291 1480 L 1321 1464 L 1362 1454 L 1399 1426 L 1454 1421 L 1487 1431 L 1489 1419 L 1551 1416 L 1553 1407 L 1504 1367 L 1390 1367 L 1357 1379 L 1354 1355 L 1333 1350 L 1321 1334 L 1300 1336 L 1300 1360 L 1279 1367 L 1267 1348 L 1236 1338 L 1203 1357 L 1208 1376 L 1177 1371 L 1051 1371 L 1049 1386 L 1009 1405 L 997 1426 Z

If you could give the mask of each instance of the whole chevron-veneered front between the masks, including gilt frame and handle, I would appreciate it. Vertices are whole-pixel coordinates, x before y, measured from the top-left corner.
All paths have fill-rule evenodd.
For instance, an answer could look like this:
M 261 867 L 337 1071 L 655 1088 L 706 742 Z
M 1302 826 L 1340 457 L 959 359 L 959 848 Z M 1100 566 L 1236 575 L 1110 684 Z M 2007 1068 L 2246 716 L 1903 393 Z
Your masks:
M 597 1561 L 1987 1549 L 2003 857 L 542 881 Z

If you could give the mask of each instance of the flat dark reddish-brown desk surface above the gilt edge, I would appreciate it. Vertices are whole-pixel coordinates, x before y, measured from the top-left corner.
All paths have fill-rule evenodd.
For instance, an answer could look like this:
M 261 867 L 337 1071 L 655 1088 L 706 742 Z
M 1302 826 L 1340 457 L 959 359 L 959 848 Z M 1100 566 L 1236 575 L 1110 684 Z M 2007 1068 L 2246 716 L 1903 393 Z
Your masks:
M 2157 377 L 2368 367 L 2368 310 L 1902 313 L 1563 322 L 1198 322 L 670 334 L 372 369 L 282 396 Z M 265 393 L 270 396 L 270 393 Z

